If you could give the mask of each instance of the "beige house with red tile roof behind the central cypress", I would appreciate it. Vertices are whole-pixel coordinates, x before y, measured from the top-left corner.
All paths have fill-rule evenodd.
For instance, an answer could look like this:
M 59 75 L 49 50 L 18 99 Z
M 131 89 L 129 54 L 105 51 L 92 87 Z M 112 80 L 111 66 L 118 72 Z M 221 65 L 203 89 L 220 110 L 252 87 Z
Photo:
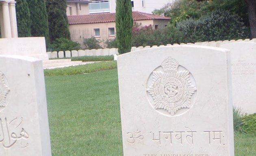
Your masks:
M 98 13 L 89 15 L 67 16 L 69 31 L 72 41 L 82 43 L 83 38 L 94 36 L 97 39 L 106 41 L 115 38 L 115 13 Z M 132 12 L 134 22 L 142 26 L 152 25 L 154 29 L 163 28 L 168 25 L 169 17 Z

